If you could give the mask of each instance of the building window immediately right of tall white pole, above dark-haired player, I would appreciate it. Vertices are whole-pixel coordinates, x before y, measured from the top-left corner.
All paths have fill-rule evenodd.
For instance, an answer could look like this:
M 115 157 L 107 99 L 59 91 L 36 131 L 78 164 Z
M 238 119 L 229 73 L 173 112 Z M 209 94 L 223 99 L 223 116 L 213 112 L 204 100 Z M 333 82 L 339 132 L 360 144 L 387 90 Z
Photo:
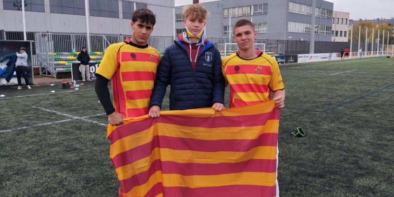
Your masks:
M 90 16 L 119 18 L 118 0 L 89 0 L 89 12 Z

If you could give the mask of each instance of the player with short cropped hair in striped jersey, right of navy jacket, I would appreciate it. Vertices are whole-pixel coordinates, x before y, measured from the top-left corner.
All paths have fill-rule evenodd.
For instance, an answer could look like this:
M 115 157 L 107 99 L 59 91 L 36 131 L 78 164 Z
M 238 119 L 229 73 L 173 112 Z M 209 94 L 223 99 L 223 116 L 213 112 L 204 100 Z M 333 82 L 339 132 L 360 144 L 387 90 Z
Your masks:
M 285 90 L 278 63 L 256 49 L 256 31 L 252 22 L 237 21 L 233 28 L 238 51 L 222 61 L 222 71 L 230 84 L 230 107 L 238 107 L 271 100 L 276 106 L 285 106 Z

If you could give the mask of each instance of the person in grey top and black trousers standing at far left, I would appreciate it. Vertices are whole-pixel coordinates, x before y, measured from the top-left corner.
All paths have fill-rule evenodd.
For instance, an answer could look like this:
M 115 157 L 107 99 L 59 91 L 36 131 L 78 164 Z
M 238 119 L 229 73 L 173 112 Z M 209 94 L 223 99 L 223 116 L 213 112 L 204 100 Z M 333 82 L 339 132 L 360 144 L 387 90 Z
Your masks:
M 27 76 L 27 71 L 28 71 L 28 54 L 26 53 L 25 47 L 22 47 L 19 49 L 19 53 L 15 53 L 17 58 L 16 58 L 16 63 L 15 63 L 15 72 L 16 72 L 16 78 L 18 79 L 18 90 L 22 90 L 22 81 L 21 81 L 21 75 L 23 75 L 23 78 L 25 79 L 25 83 L 28 86 L 28 89 L 32 89 L 29 85 L 29 79 Z

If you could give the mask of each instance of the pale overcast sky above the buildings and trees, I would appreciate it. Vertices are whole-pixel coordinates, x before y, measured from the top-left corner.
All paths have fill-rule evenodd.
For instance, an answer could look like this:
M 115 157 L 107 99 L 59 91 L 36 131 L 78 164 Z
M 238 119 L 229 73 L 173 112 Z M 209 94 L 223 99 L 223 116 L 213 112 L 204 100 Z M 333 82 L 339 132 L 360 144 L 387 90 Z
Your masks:
M 207 2 L 213 0 L 199 0 Z M 394 17 L 394 0 L 327 0 L 334 3 L 334 11 L 349 12 L 350 19 Z M 175 0 L 175 6 L 193 3 L 193 0 Z

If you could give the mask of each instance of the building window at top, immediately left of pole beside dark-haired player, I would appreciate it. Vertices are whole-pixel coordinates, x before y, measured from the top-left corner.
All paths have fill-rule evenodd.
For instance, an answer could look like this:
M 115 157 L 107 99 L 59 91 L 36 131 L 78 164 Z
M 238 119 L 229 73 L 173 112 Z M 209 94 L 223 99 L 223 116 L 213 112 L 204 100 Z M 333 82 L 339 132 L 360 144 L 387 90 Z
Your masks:
M 49 0 L 51 13 L 73 14 L 85 16 L 84 0 Z

